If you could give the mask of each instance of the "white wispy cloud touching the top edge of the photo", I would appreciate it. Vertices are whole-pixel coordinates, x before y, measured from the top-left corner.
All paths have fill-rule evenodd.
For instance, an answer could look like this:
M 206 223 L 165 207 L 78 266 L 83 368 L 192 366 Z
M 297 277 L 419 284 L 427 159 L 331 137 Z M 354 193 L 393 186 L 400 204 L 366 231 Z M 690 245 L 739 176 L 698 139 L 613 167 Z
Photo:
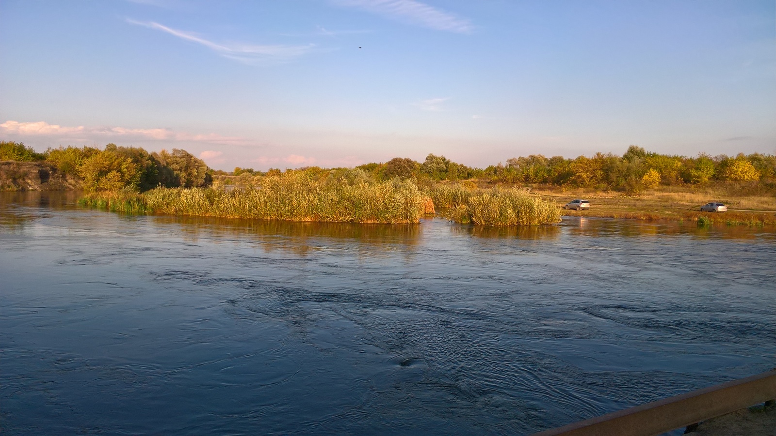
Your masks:
M 449 12 L 415 0 L 332 0 L 335 5 L 363 9 L 391 19 L 411 22 L 429 29 L 470 33 L 472 23 Z

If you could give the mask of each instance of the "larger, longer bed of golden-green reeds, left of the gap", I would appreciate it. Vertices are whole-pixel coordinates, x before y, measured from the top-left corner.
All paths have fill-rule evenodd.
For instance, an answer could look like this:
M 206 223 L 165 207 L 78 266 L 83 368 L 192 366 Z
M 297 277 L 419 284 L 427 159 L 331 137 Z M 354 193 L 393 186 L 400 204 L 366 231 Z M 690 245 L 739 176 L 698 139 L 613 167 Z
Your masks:
M 416 223 L 428 197 L 411 181 L 321 182 L 307 173 L 265 177 L 258 187 L 157 188 L 88 194 L 81 204 L 110 211 L 285 221 Z

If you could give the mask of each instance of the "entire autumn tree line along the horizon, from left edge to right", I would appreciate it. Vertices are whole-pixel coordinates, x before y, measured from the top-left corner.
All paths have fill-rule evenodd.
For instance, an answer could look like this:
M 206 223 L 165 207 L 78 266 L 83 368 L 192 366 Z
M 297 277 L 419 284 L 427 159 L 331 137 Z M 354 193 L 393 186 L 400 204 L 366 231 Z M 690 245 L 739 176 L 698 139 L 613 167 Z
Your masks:
M 45 161 L 61 172 L 81 177 L 91 190 L 113 190 L 133 187 L 146 191 L 153 187 L 201 187 L 213 176 L 237 176 L 253 179 L 282 173 L 237 167 L 234 171 L 211 170 L 182 149 L 148 153 L 142 148 L 108 144 L 94 147 L 49 148 L 44 153 L 19 142 L 0 142 L 0 160 Z M 763 183 L 776 187 L 776 156 L 753 153 L 736 156 L 696 157 L 670 156 L 647 152 L 629 146 L 622 155 L 595 153 L 575 159 L 540 154 L 508 159 L 486 168 L 468 167 L 445 156 L 429 154 L 423 162 L 394 158 L 385 163 L 365 163 L 355 169 L 376 181 L 398 178 L 414 179 L 419 186 L 430 186 L 442 180 L 478 180 L 495 184 L 546 184 L 555 186 L 593 187 L 617 191 L 639 191 L 660 185 L 700 185 L 713 182 Z M 318 177 L 344 173 L 345 168 L 303 167 Z

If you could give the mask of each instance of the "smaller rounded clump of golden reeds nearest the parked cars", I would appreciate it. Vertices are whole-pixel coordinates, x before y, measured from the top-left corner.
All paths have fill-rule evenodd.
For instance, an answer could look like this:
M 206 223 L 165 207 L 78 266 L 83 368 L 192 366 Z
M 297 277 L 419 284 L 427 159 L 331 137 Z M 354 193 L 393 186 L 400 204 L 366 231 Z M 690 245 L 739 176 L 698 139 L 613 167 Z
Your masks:
M 453 221 L 475 225 L 544 225 L 560 221 L 560 209 L 552 201 L 533 197 L 516 188 L 476 191 L 466 204 L 452 211 Z

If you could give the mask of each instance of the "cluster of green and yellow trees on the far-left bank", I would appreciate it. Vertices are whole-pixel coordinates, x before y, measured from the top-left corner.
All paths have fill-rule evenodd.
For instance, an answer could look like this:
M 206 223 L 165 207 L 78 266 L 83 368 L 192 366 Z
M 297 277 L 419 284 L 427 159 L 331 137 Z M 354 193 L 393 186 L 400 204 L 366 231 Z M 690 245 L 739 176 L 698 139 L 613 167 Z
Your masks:
M 104 149 L 60 146 L 43 153 L 21 142 L 0 142 L 0 160 L 48 163 L 61 173 L 82 180 L 90 191 L 154 187 L 203 187 L 212 177 L 203 160 L 182 149 L 148 153 L 140 147 L 108 144 Z

